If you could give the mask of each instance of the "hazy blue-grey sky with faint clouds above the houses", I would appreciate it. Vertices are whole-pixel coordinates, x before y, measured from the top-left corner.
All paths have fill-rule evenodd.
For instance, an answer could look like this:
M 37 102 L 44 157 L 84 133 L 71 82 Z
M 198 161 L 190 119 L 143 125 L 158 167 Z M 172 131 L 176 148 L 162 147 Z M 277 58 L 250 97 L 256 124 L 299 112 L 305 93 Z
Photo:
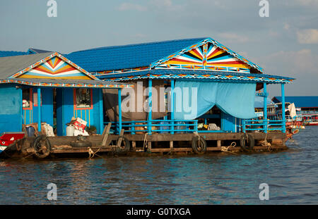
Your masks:
M 170 39 L 211 37 L 264 68 L 293 77 L 286 96 L 318 96 L 318 0 L 48 0 L 0 2 L 0 50 L 91 49 Z M 281 96 L 280 85 L 268 86 Z

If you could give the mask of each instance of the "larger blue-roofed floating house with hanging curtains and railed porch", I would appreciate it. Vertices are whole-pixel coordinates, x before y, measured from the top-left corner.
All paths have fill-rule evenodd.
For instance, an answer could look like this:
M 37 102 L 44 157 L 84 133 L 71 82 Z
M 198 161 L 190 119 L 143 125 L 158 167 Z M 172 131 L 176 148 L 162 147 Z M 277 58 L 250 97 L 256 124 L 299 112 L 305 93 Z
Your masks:
M 75 51 L 66 57 L 100 80 L 134 85 L 143 82 L 143 89 L 149 87 L 148 111 L 143 112 L 146 114 L 123 115 L 125 132 L 131 134 L 135 134 L 139 126 L 145 126 L 143 124 L 146 124 L 145 130 L 138 130 L 148 134 L 254 130 L 249 121 L 257 118 L 254 111 L 256 92 L 259 91 L 257 96 L 266 99 L 266 85 L 279 84 L 284 96 L 284 85 L 293 81 L 290 77 L 264 74 L 259 65 L 210 37 L 107 46 Z M 160 87 L 170 87 L 170 94 L 175 95 L 170 95 L 169 101 L 153 97 L 153 89 Z M 191 96 L 189 92 L 187 95 L 184 88 L 195 88 L 196 94 Z M 181 95 L 176 96 L 176 91 L 180 90 Z M 196 100 L 195 103 L 192 99 Z M 167 111 L 153 111 L 154 105 L 167 105 L 167 102 L 170 102 Z M 180 108 L 184 103 L 191 105 L 191 102 L 190 108 L 195 108 L 195 112 Z M 266 104 L 264 101 L 264 108 Z M 262 119 L 266 125 L 263 129 L 266 132 L 271 121 L 267 120 L 266 111 L 264 114 Z M 110 118 L 117 122 L 114 116 Z M 201 129 L 201 123 L 204 127 L 213 123 L 213 127 L 218 128 Z M 167 128 L 163 128 L 165 125 Z M 280 127 L 276 124 L 276 128 L 271 128 L 285 132 L 283 121 Z

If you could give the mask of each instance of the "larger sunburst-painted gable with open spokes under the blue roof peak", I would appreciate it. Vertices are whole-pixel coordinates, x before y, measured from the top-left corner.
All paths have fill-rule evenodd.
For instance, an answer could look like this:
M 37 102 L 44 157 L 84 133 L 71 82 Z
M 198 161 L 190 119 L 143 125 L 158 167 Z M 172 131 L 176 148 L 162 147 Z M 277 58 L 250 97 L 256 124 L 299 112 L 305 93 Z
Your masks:
M 249 73 L 250 66 L 232 56 L 219 46 L 206 42 L 177 56 L 168 57 L 167 61 L 155 68 L 215 70 L 236 73 Z

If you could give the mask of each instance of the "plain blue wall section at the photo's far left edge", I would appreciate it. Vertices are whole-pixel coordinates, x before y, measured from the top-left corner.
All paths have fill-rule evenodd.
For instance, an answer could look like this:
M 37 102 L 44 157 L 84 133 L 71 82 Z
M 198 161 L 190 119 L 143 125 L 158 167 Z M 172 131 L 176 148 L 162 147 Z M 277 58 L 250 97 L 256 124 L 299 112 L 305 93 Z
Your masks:
M 0 86 L 0 133 L 22 130 L 22 90 L 16 85 Z

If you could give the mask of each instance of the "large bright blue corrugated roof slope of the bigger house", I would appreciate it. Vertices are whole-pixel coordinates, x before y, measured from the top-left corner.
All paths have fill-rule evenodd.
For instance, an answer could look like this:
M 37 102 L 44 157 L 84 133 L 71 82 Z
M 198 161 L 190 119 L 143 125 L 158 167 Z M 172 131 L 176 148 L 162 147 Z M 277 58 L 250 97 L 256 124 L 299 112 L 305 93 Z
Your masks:
M 66 55 L 66 58 L 69 58 L 73 63 L 76 63 L 91 73 L 102 70 L 137 68 L 149 66 L 160 58 L 169 56 L 204 39 L 206 38 L 176 39 L 124 46 L 106 46 L 75 51 Z

